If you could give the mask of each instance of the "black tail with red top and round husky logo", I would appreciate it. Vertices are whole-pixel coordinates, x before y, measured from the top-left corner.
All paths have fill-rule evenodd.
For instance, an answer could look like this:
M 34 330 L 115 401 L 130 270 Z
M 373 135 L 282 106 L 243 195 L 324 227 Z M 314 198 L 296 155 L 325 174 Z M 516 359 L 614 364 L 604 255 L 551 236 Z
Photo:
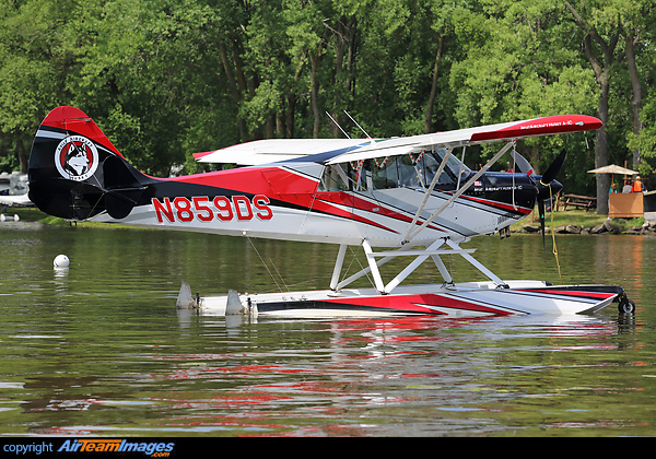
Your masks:
M 68 220 L 101 212 L 126 217 L 151 181 L 132 167 L 96 123 L 74 107 L 57 107 L 42 122 L 28 163 L 30 199 Z

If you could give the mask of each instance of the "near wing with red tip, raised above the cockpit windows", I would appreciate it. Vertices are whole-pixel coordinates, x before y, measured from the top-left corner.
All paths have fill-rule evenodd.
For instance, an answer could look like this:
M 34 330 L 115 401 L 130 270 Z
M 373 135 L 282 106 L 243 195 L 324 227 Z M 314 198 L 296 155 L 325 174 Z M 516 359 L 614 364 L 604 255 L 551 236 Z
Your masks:
M 601 121 L 585 115 L 558 115 L 524 121 L 503 122 L 478 128 L 431 134 L 393 138 L 372 142 L 356 151 L 335 156 L 326 164 L 394 156 L 433 148 L 455 148 L 494 141 L 511 141 L 535 136 L 550 136 L 599 129 Z

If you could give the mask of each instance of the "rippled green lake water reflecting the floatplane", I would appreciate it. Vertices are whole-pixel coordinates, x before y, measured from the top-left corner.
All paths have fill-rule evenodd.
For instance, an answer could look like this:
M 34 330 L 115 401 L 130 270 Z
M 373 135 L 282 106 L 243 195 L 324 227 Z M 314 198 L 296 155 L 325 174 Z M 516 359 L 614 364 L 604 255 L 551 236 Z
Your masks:
M 1 225 L 4 436 L 656 434 L 653 237 L 557 236 L 562 281 L 624 286 L 630 318 L 612 304 L 576 317 L 233 325 L 176 310 L 181 281 L 202 295 L 325 287 L 337 247 Z M 465 246 L 502 278 L 560 283 L 550 238 L 547 250 L 532 235 Z M 58 254 L 67 271 L 52 269 Z M 477 279 L 448 264 L 456 281 Z M 433 271 L 415 280 L 438 281 Z

